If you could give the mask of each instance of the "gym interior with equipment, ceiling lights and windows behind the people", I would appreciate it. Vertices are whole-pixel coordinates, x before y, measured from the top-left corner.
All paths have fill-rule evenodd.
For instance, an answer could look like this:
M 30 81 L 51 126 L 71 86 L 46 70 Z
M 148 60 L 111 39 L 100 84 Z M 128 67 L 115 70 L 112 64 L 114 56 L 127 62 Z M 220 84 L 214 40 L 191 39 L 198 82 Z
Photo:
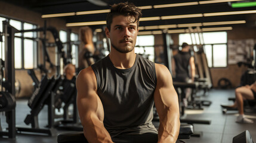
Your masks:
M 72 63 L 78 69 L 83 26 L 92 29 L 97 58 L 109 54 L 106 15 L 110 5 L 119 2 L 124 1 L 0 1 L 0 142 L 84 138 L 75 80 L 65 79 L 64 67 Z M 243 101 L 245 116 L 252 124 L 236 123 L 238 110 L 221 107 L 235 102 L 236 88 L 256 79 L 256 1 L 129 2 L 143 13 L 137 54 L 164 64 L 172 77 L 172 57 L 182 43 L 190 45 L 195 58 L 195 82 L 173 82 L 181 125 L 191 125 L 190 133 L 179 138 L 197 143 L 256 141 L 255 99 Z M 192 92 L 184 107 L 180 97 L 187 88 Z M 158 128 L 159 117 L 153 111 L 153 125 Z

